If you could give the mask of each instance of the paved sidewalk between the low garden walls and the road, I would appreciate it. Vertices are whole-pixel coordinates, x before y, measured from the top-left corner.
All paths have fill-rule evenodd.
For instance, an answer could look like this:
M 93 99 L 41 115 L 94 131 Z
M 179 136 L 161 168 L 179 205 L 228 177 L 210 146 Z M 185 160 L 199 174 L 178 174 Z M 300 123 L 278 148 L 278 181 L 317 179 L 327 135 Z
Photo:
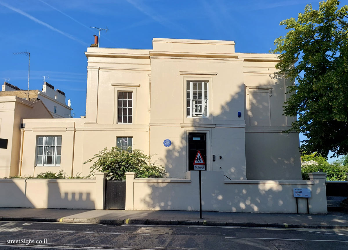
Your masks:
M 284 214 L 203 211 L 202 217 L 199 219 L 198 211 L 0 208 L 0 220 L 2 221 L 348 229 L 348 214 L 343 212 Z

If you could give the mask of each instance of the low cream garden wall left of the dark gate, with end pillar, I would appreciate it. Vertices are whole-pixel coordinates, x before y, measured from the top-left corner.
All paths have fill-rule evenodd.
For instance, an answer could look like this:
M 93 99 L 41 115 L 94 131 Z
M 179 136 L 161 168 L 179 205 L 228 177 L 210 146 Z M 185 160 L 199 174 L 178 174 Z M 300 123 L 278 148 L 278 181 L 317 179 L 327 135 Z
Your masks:
M 104 209 L 105 173 L 94 179 L 0 179 L 0 207 Z

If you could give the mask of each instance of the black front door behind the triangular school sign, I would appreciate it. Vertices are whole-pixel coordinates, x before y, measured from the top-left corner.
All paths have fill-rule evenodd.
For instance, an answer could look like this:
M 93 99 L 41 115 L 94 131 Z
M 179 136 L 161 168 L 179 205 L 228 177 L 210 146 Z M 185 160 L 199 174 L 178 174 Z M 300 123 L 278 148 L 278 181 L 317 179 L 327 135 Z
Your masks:
M 193 170 L 193 161 L 200 151 L 205 164 L 207 164 L 207 133 L 189 133 L 189 171 Z

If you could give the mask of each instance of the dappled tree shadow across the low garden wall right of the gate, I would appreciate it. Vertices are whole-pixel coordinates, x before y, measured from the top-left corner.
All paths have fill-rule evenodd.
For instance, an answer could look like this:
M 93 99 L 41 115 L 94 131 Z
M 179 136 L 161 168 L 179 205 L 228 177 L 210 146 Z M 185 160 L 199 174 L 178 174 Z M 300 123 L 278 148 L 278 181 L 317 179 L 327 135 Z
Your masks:
M 325 186 L 280 184 L 277 181 L 266 184 L 224 183 L 223 177 L 222 171 L 202 171 L 203 211 L 295 213 L 296 200 L 292 190 L 295 187 L 312 188 L 316 200 L 310 200 L 310 213 L 317 213 L 316 204 L 323 204 L 326 199 L 325 195 L 320 195 L 325 192 Z M 139 182 L 134 184 L 134 191 L 139 191 Z M 141 198 L 135 196 L 135 210 L 199 210 L 198 171 L 191 171 L 191 183 L 146 184 L 141 186 L 145 195 Z M 307 213 L 306 199 L 299 199 L 298 205 L 300 213 Z

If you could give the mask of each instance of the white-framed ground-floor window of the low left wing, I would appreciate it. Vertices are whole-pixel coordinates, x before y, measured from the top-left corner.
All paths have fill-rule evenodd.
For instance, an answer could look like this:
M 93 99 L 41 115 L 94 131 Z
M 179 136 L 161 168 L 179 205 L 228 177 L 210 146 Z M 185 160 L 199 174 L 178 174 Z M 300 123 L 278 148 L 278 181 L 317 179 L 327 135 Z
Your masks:
M 42 137 L 42 145 L 38 145 L 39 138 Z M 54 143 L 53 145 L 46 145 L 47 137 L 53 137 Z M 37 135 L 36 136 L 36 142 L 35 142 L 35 166 L 39 167 L 60 167 L 62 164 L 62 139 L 61 139 L 61 145 L 57 145 L 58 137 L 62 138 L 62 135 Z M 42 155 L 38 155 L 39 147 L 42 147 Z M 54 154 L 52 155 L 53 164 L 45 164 L 45 147 L 54 147 Z M 61 147 L 61 154 L 57 155 L 57 147 Z M 38 164 L 38 156 L 42 156 L 42 163 Z M 61 163 L 57 164 L 57 156 L 61 157 Z

